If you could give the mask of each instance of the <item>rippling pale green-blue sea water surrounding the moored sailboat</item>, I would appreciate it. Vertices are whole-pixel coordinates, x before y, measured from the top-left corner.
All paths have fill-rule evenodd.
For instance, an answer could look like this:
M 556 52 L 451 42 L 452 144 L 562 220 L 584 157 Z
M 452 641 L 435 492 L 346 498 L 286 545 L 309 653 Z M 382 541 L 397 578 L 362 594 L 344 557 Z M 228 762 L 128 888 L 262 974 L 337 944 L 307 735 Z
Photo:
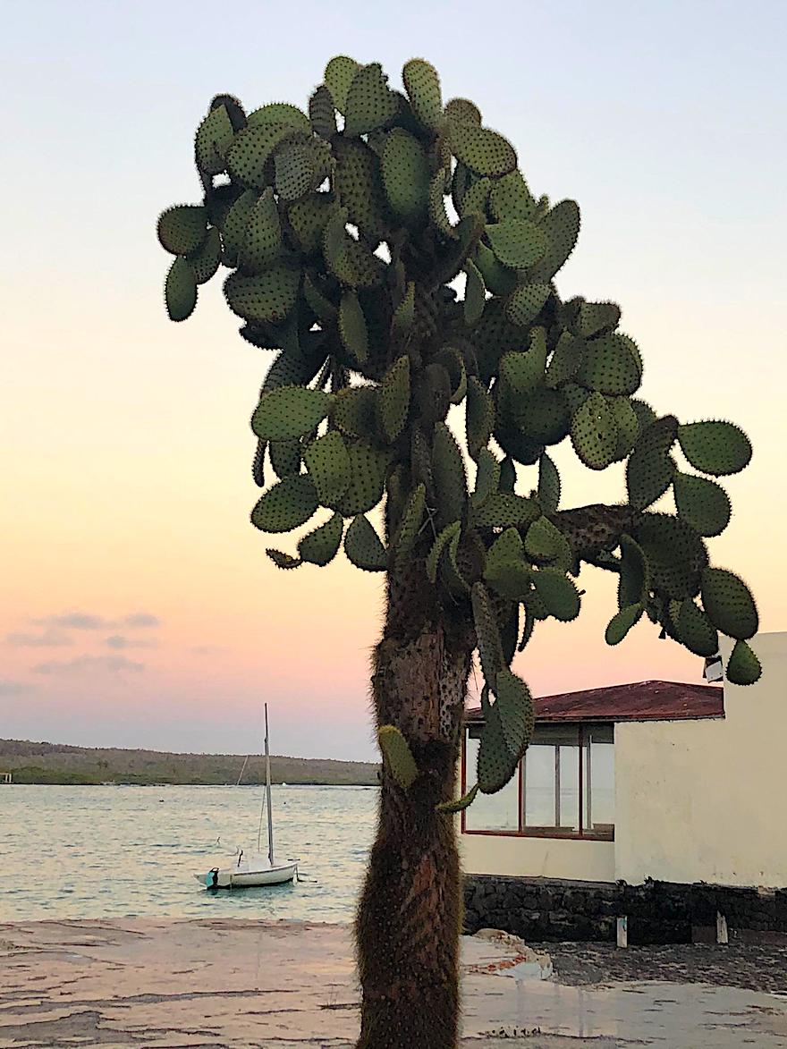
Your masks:
M 209 893 L 193 873 L 256 848 L 258 787 L 0 786 L 0 922 L 107 916 L 348 921 L 377 788 L 273 787 L 297 884 Z M 262 826 L 268 851 L 267 823 Z

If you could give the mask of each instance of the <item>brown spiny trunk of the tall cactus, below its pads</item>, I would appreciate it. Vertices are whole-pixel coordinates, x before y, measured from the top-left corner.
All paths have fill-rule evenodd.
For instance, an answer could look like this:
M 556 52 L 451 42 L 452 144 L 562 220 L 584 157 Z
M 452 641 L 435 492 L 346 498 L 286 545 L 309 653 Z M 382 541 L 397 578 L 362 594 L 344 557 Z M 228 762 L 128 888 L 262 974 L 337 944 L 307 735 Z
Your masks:
M 423 580 L 423 581 L 422 581 Z M 404 791 L 383 769 L 377 838 L 356 922 L 363 991 L 357 1049 L 455 1049 L 462 897 L 453 818 L 472 638 L 424 585 L 423 563 L 389 579 L 375 652 L 378 727 L 407 738 L 419 776 Z

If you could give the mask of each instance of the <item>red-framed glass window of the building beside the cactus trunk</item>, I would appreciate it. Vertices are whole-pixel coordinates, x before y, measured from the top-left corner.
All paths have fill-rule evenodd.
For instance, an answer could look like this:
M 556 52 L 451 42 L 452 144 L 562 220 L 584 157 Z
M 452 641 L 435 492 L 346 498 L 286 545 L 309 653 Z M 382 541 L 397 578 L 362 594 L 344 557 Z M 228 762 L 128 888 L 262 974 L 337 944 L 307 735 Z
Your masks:
M 465 782 L 474 782 L 482 726 L 465 738 Z M 497 794 L 477 794 L 463 830 L 546 837 L 612 838 L 612 725 L 539 725 L 519 768 Z

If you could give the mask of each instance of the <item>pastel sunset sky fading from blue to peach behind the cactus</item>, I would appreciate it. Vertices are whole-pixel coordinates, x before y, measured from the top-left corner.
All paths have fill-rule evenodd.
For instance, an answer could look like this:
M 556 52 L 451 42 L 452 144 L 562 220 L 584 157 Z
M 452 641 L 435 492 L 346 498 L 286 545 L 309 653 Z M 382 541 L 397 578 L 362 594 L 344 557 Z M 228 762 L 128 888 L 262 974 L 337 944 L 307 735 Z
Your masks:
M 762 629 L 787 628 L 784 4 L 0 8 L 0 736 L 244 753 L 267 701 L 276 752 L 374 757 L 382 576 L 264 556 L 249 419 L 271 355 L 239 338 L 218 279 L 171 324 L 155 239 L 159 211 L 200 198 L 192 138 L 213 94 L 304 106 L 337 53 L 397 86 L 427 58 L 536 194 L 578 200 L 559 291 L 621 304 L 660 412 L 747 430 L 711 556 L 748 581 Z M 622 497 L 618 466 L 556 459 L 562 506 Z M 535 694 L 700 680 L 650 623 L 608 648 L 614 580 L 580 582 L 580 619 L 517 657 Z

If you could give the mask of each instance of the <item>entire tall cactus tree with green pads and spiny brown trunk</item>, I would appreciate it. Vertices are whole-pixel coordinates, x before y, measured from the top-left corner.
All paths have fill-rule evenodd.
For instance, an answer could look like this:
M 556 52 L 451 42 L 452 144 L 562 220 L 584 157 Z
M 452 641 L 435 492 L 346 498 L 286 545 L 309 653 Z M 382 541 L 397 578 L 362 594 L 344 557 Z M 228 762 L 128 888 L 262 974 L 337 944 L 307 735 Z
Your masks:
M 386 573 L 358 1045 L 451 1049 L 451 814 L 504 787 L 528 746 L 533 705 L 514 654 L 539 621 L 576 618 L 590 563 L 617 583 L 611 645 L 642 617 L 699 656 L 723 631 L 728 679 L 756 680 L 754 603 L 705 543 L 730 513 L 712 478 L 745 467 L 750 446 L 731 423 L 681 423 L 635 397 L 642 359 L 620 308 L 566 301 L 555 285 L 577 205 L 533 196 L 511 144 L 472 102 L 444 103 L 428 62 L 408 62 L 403 80 L 397 90 L 378 64 L 340 57 L 307 111 L 247 112 L 217 95 L 196 132 L 204 199 L 165 211 L 158 237 L 174 256 L 170 318 L 189 317 L 225 266 L 241 336 L 275 355 L 252 416 L 263 489 L 252 522 L 313 527 L 270 558 L 303 571 L 343 544 L 359 569 Z M 561 509 L 549 449 L 566 440 L 591 470 L 625 463 L 623 501 Z M 652 509 L 669 489 L 674 501 Z M 455 800 L 476 648 L 477 782 Z

